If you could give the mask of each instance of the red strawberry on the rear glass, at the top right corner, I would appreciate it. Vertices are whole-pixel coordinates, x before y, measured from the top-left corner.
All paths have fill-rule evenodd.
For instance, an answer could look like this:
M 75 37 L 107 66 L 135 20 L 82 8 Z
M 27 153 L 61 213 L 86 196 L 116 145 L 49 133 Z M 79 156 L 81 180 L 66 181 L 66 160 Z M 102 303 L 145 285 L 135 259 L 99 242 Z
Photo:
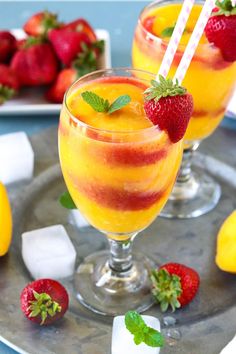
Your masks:
M 216 1 L 218 8 L 209 18 L 205 34 L 210 43 L 221 50 L 225 61 L 236 60 L 236 6 L 231 0 Z

